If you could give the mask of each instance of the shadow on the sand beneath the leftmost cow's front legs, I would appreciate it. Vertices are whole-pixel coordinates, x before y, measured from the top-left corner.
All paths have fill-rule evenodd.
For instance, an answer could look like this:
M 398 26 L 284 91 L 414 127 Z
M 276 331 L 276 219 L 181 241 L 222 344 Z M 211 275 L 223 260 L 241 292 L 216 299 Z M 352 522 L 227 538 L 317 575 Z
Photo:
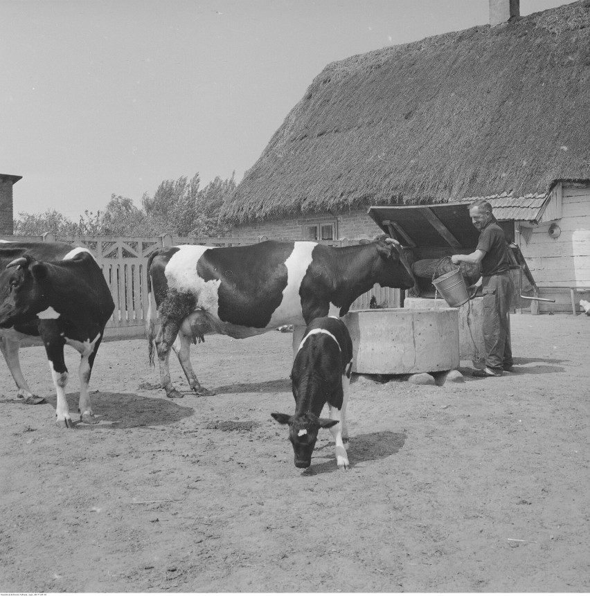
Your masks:
M 78 396 L 68 393 L 66 398 L 72 422 L 75 428 L 89 430 L 92 428 L 135 428 L 138 426 L 164 426 L 172 422 L 192 416 L 193 408 L 179 406 L 176 401 L 156 397 L 144 397 L 134 393 L 91 393 L 92 409 L 98 424 L 80 423 L 78 415 Z M 48 404 L 55 407 L 55 396 L 45 398 Z M 38 406 L 37 406 L 38 407 Z

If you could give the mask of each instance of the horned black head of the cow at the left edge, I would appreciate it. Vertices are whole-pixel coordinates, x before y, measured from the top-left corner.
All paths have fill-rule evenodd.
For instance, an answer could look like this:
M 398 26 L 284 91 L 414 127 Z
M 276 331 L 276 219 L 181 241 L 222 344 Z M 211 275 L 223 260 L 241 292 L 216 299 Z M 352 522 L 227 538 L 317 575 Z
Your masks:
M 0 271 L 0 327 L 28 323 L 48 307 L 46 264 L 23 255 Z

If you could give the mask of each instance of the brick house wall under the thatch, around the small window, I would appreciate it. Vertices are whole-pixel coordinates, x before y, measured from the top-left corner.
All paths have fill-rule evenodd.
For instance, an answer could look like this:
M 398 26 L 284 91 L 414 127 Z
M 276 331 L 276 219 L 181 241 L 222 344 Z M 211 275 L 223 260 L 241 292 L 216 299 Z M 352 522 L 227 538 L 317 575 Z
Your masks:
M 382 234 L 373 219 L 366 215 L 366 210 L 357 210 L 339 215 L 319 213 L 269 222 L 253 222 L 234 226 L 232 235 L 241 238 L 267 236 L 269 240 L 302 240 L 305 238 L 305 226 L 331 223 L 336 224 L 336 240 L 372 240 Z

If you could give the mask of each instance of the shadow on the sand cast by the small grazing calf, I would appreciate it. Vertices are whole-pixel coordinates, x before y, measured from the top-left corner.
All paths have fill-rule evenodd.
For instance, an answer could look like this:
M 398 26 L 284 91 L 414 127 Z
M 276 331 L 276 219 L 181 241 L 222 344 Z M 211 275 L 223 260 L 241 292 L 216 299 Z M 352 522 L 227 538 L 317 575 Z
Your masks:
M 394 455 L 402 449 L 406 438 L 407 435 L 405 433 L 392 433 L 391 431 L 378 431 L 376 433 L 350 437 L 350 444 L 348 445 L 348 449 L 346 449 L 350 467 L 353 468 L 356 464 L 382 460 L 388 458 L 389 455 Z M 305 469 L 302 472 L 303 474 L 323 474 L 339 471 L 334 456 L 333 441 L 317 447 L 314 455 L 329 457 L 329 460 L 314 464 L 312 459 L 312 465 Z

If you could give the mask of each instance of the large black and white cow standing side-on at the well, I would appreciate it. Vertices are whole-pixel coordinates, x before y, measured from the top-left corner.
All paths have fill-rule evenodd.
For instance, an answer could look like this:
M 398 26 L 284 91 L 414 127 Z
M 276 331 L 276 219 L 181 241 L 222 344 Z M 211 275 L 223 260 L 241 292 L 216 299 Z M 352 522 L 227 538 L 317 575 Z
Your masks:
M 155 338 L 161 386 L 168 397 L 182 397 L 168 369 L 174 347 L 190 388 L 211 395 L 190 365 L 191 342 L 206 333 L 244 338 L 280 325 L 307 325 L 319 316 L 343 316 L 375 283 L 413 287 L 409 263 L 391 238 L 342 248 L 269 240 L 228 248 L 158 249 L 147 264 L 150 361 Z M 161 326 L 156 336 L 157 314 Z

